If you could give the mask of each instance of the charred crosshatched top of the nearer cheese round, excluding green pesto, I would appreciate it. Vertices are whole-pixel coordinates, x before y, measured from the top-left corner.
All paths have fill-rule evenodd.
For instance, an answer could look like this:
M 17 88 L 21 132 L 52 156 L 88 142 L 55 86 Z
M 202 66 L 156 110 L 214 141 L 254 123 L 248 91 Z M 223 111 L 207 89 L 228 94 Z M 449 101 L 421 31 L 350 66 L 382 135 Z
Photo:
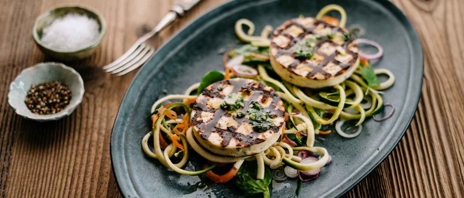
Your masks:
M 219 87 L 222 89 L 219 90 Z M 222 110 L 220 104 L 231 93 L 242 95 L 245 107 L 231 112 Z M 271 129 L 264 132 L 252 130 L 250 116 L 246 112 L 251 101 L 258 101 L 263 111 L 269 110 L 270 114 L 275 116 L 271 118 L 273 121 Z M 245 116 L 238 118 L 238 112 L 243 112 Z M 195 100 L 192 125 L 197 133 L 195 134 L 197 139 L 198 135 L 202 139 L 199 140 L 200 143 L 206 140 L 212 147 L 241 149 L 257 145 L 279 133 L 284 124 L 284 112 L 282 100 L 271 87 L 255 80 L 235 78 L 214 83 L 203 90 Z M 208 149 L 213 153 L 221 154 L 214 149 Z M 260 152 L 245 151 L 245 155 L 257 153 Z

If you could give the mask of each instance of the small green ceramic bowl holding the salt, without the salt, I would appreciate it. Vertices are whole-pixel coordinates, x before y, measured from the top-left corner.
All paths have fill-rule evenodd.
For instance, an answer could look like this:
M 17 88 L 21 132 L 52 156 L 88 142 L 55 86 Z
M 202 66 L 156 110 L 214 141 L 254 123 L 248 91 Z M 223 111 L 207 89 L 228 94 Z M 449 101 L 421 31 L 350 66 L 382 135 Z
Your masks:
M 97 20 L 98 24 L 100 25 L 100 29 L 99 29 L 100 35 L 98 36 L 98 39 L 87 47 L 84 47 L 82 49 L 73 50 L 73 51 L 56 49 L 56 48 L 45 45 L 45 43 L 42 43 L 40 39 L 42 38 L 43 28 L 52 24 L 52 22 L 55 19 L 59 17 L 63 17 L 64 15 L 68 13 L 84 14 L 90 18 Z M 105 33 L 106 33 L 106 23 L 105 23 L 105 19 L 103 18 L 103 15 L 91 7 L 83 6 L 80 4 L 66 4 L 64 6 L 55 7 L 41 14 L 35 20 L 34 28 L 32 29 L 32 36 L 34 37 L 34 40 L 39 46 L 39 48 L 46 55 L 52 56 L 54 58 L 57 58 L 63 61 L 75 61 L 75 60 L 83 59 L 95 53 Z

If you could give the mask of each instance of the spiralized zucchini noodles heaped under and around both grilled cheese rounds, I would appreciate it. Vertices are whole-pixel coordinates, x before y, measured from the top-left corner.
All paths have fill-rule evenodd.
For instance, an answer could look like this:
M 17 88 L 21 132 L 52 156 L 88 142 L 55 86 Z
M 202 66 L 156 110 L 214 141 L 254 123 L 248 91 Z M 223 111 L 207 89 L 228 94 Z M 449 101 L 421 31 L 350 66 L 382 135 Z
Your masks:
M 325 14 L 332 10 L 341 13 L 342 17 L 339 26 L 344 27 L 347 15 L 345 10 L 338 5 L 325 6 L 317 14 L 316 19 L 322 19 Z M 244 25 L 248 27 L 246 33 L 242 28 Z M 239 19 L 235 24 L 235 32 L 241 41 L 251 43 L 251 45 L 261 47 L 261 49 L 269 47 L 270 39 L 268 37 L 272 31 L 272 27 L 266 25 L 259 36 L 253 36 L 254 31 L 255 25 L 248 19 Z M 286 125 L 288 128 L 282 130 L 282 138 L 270 148 L 262 153 L 245 157 L 220 156 L 204 149 L 193 135 L 195 131 L 190 123 L 190 115 L 188 115 L 191 111 L 191 106 L 187 105 L 192 103 L 193 99 L 197 97 L 190 95 L 190 93 L 194 92 L 200 86 L 200 83 L 195 83 L 188 87 L 184 94 L 168 95 L 155 101 L 151 107 L 151 112 L 153 112 L 151 118 L 154 119 L 153 129 L 143 136 L 142 150 L 148 157 L 158 159 L 162 165 L 173 169 L 177 173 L 188 175 L 206 173 L 215 167 L 215 165 L 206 166 L 204 167 L 205 169 L 199 171 L 182 169 L 189 160 L 191 152 L 189 148 L 192 148 L 208 161 L 216 163 L 237 162 L 238 167 L 236 168 L 239 168 L 244 161 L 247 161 L 247 163 L 255 163 L 254 161 L 256 161 L 258 168 L 257 179 L 264 179 L 265 166 L 271 169 L 290 166 L 300 171 L 316 170 L 325 166 L 331 159 L 327 149 L 314 146 L 317 134 L 328 134 L 326 131 L 319 130 L 321 125 L 331 125 L 339 119 L 357 121 L 356 126 L 362 124 L 366 118 L 380 112 L 383 107 L 383 99 L 380 95 L 382 92 L 379 90 L 393 86 L 395 80 L 391 71 L 383 68 L 374 69 L 374 74 L 386 74 L 388 80 L 381 82 L 379 86 L 369 87 L 367 81 L 361 77 L 361 70 L 358 68 L 350 76 L 349 80 L 345 80 L 341 84 L 325 88 L 324 90 L 317 90 L 297 87 L 288 82 L 273 79 L 268 74 L 268 70 L 261 64 L 257 66 L 257 70 L 259 76 L 255 77 L 277 88 L 275 91 L 284 103 L 287 104 L 288 108 L 286 111 L 289 112 L 287 114 L 289 121 L 287 121 Z M 182 103 L 174 103 L 167 108 L 162 107 L 163 103 L 168 103 L 171 100 L 179 100 Z M 175 106 L 184 107 L 187 115 L 175 118 L 175 114 L 171 112 L 171 109 Z M 164 112 L 171 112 L 171 114 Z M 178 126 L 182 126 L 183 129 L 176 129 Z M 288 139 L 290 136 L 293 136 L 293 138 L 295 138 L 294 136 L 298 136 L 299 138 L 304 136 L 302 139 L 306 139 L 306 142 L 301 142 L 301 139 L 297 145 L 296 142 L 291 142 Z M 150 138 L 153 139 L 154 151 L 148 146 Z M 163 149 L 162 147 L 165 148 Z M 302 161 L 302 157 L 298 151 L 301 152 L 301 150 L 321 154 L 320 159 L 307 164 L 299 163 Z M 181 158 L 179 163 L 174 164 L 171 161 L 171 158 L 174 156 Z

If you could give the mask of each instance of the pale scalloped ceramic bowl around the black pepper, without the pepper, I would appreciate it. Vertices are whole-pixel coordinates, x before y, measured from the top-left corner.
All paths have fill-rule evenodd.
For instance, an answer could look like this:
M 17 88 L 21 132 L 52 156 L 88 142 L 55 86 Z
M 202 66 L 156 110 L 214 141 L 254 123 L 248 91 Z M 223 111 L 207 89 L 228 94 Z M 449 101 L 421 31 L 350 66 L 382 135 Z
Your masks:
M 24 99 L 32 84 L 38 85 L 45 82 L 58 80 L 71 89 L 72 98 L 63 111 L 55 114 L 39 115 L 32 113 L 26 106 Z M 21 71 L 10 84 L 8 103 L 20 116 L 37 120 L 39 122 L 52 121 L 69 116 L 82 102 L 84 96 L 84 81 L 79 73 L 71 67 L 58 62 L 42 62 Z

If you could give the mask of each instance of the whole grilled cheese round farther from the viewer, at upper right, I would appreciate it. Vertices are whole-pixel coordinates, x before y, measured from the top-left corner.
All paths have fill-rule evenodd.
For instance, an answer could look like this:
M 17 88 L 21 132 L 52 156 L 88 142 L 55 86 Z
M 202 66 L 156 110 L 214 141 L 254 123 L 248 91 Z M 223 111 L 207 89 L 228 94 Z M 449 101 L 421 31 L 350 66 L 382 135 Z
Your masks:
M 287 20 L 272 33 L 272 68 L 282 79 L 300 87 L 339 84 L 359 65 L 358 43 L 348 35 L 345 28 L 314 18 Z M 301 50 L 301 46 L 306 49 Z M 304 50 L 311 50 L 310 55 L 301 56 Z

